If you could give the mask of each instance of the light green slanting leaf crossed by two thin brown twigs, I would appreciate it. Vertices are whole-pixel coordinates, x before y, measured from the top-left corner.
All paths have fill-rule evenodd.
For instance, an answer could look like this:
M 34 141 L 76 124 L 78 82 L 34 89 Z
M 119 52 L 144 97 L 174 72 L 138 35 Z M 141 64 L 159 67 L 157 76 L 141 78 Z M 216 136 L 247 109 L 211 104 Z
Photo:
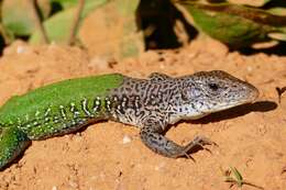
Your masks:
M 99 8 L 100 5 L 107 3 L 108 0 L 89 0 L 86 1 L 84 10 L 80 15 L 80 22 L 88 15 L 92 10 Z M 69 37 L 70 29 L 74 22 L 74 18 L 77 11 L 77 7 L 68 8 L 61 11 L 44 22 L 44 29 L 46 31 L 48 40 L 57 43 L 66 43 Z M 40 31 L 35 31 L 30 37 L 30 43 L 40 44 L 43 42 Z

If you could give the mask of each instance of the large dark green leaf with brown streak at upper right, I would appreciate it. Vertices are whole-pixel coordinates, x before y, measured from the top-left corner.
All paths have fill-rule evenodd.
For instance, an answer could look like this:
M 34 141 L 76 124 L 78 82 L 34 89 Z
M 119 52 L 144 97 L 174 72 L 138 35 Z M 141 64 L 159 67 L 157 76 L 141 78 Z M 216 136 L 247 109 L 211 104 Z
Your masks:
M 268 33 L 286 26 L 286 16 L 230 3 L 182 4 L 193 15 L 197 27 L 232 47 L 243 47 L 268 41 Z

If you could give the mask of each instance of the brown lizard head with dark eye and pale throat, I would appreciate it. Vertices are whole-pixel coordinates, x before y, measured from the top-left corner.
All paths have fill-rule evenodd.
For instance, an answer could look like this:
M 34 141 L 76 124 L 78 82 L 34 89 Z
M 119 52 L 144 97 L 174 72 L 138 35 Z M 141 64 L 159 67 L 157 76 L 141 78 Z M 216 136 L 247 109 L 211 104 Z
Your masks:
M 201 71 L 183 77 L 182 100 L 190 113 L 187 118 L 200 118 L 206 114 L 253 102 L 258 90 L 224 71 Z M 195 111 L 194 111 L 195 110 Z M 193 115 L 191 115 L 193 114 Z

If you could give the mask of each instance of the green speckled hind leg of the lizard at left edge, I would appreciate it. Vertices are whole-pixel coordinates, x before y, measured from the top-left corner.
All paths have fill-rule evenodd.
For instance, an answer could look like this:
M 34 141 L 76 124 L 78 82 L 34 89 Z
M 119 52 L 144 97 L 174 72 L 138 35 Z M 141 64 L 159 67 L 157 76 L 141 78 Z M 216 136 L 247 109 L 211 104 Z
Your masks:
M 0 128 L 0 170 L 15 159 L 31 144 L 31 139 L 18 127 Z

